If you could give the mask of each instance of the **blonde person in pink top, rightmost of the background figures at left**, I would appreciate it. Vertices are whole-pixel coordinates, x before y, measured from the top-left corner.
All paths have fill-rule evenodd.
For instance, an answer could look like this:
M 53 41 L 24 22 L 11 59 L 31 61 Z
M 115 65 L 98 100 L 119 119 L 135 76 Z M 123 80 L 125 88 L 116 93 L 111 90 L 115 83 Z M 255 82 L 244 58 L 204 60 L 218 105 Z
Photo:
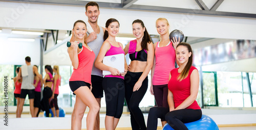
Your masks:
M 59 107 L 58 107 L 58 99 L 57 96 L 59 95 L 59 85 L 61 82 L 61 76 L 59 75 L 59 66 L 53 66 L 54 72 L 54 81 L 52 86 L 52 97 L 50 106 L 52 109 L 53 117 L 59 117 Z

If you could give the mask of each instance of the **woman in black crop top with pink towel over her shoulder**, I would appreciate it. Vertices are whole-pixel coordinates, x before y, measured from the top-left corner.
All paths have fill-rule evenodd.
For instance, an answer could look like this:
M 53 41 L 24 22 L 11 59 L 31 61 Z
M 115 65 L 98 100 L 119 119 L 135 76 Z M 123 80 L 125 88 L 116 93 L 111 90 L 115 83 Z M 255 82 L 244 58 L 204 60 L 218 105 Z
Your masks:
M 146 129 L 139 103 L 147 90 L 147 75 L 153 66 L 154 46 L 142 20 L 134 20 L 132 25 L 136 39 L 124 48 L 125 55 L 129 53 L 131 59 L 131 68 L 124 77 L 125 100 L 131 115 L 132 129 Z

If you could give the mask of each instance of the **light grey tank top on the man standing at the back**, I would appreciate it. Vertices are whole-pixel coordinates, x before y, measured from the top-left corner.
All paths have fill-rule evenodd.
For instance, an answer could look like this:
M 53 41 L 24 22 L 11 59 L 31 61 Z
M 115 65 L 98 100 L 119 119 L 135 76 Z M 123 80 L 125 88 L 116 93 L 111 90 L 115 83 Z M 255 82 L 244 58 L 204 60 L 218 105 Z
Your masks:
M 95 54 L 95 59 L 97 58 L 98 54 L 99 54 L 99 50 L 103 44 L 103 29 L 102 27 L 100 27 L 100 32 L 99 34 L 97 34 L 97 38 L 91 42 L 89 42 L 87 45 L 93 50 L 94 54 Z M 87 32 L 87 35 L 89 35 L 89 33 Z M 92 75 L 97 75 L 97 76 L 100 76 L 100 77 L 103 77 L 102 75 L 102 71 L 97 69 L 95 66 L 94 66 L 94 63 L 95 63 L 95 59 L 94 59 L 94 62 L 93 62 L 93 69 L 92 69 Z

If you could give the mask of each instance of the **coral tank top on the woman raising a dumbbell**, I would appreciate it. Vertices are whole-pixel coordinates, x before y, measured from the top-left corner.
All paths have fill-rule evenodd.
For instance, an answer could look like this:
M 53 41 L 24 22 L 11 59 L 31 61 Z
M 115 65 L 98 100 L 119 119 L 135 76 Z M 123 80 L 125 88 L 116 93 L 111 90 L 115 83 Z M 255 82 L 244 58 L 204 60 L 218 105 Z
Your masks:
M 74 69 L 69 81 L 84 81 L 92 84 L 91 73 L 94 59 L 94 52 L 82 46 L 82 50 L 78 53 L 78 68 Z

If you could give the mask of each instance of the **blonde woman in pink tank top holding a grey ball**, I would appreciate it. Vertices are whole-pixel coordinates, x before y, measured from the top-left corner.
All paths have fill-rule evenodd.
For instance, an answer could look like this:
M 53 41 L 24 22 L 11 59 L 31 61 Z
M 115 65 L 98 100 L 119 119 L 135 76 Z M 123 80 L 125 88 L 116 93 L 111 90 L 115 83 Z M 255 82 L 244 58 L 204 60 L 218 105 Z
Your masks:
M 168 108 L 168 77 L 170 71 L 175 68 L 175 49 L 180 40 L 169 40 L 169 23 L 166 18 L 158 18 L 156 28 L 160 41 L 154 44 L 155 58 L 151 70 L 150 92 L 155 96 L 157 106 Z M 166 123 L 163 119 L 161 121 L 162 125 Z

